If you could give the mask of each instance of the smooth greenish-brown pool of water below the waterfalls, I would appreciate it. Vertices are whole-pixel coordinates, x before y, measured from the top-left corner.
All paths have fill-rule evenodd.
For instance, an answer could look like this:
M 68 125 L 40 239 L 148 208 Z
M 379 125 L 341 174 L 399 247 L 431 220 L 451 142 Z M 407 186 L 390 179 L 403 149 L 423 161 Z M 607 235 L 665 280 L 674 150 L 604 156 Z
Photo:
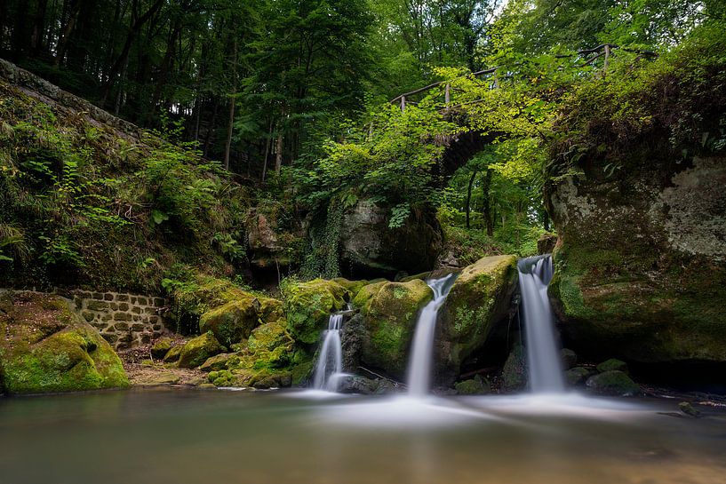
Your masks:
M 718 484 L 676 401 L 129 390 L 0 399 L 3 484 Z

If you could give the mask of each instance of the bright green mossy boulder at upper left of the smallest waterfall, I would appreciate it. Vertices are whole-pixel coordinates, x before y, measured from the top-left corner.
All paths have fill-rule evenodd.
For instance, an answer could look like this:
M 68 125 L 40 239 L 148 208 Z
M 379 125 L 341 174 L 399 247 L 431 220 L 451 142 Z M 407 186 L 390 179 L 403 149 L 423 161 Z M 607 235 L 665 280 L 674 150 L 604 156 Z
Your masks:
M 338 282 L 315 279 L 283 285 L 284 313 L 291 335 L 300 343 L 315 345 L 327 327 L 330 314 L 342 309 L 349 299 Z

